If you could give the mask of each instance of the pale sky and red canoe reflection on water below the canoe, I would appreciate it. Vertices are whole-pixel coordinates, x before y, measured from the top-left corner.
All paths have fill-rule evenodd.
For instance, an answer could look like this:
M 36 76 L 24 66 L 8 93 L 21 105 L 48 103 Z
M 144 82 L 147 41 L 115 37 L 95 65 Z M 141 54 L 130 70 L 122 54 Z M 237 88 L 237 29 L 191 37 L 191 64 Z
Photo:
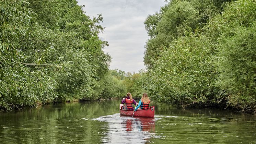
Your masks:
M 108 131 L 102 137 L 105 143 L 151 142 L 155 136 L 155 121 L 160 118 L 132 118 L 119 113 L 94 120 L 107 122 Z

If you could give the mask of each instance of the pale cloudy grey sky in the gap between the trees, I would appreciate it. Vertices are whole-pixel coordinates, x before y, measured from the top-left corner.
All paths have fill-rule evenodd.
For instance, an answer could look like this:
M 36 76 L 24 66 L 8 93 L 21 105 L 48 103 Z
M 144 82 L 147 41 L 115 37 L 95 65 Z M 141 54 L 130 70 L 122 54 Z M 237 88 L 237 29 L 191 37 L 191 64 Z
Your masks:
M 100 23 L 105 30 L 99 34 L 109 46 L 104 51 L 112 57 L 109 69 L 139 72 L 143 63 L 144 46 L 149 39 L 144 21 L 164 6 L 164 0 L 77 0 L 91 18 L 102 14 Z

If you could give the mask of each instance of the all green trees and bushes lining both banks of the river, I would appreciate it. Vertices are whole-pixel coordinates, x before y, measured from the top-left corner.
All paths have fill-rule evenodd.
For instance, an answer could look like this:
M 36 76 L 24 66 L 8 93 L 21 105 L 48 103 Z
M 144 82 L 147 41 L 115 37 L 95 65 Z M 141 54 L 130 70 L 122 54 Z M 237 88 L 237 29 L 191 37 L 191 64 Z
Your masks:
M 146 69 L 109 70 L 101 14 L 75 0 L 0 1 L 0 111 L 133 98 L 256 113 L 256 1 L 166 0 L 144 21 Z M 85 10 L 86 11 L 86 10 Z

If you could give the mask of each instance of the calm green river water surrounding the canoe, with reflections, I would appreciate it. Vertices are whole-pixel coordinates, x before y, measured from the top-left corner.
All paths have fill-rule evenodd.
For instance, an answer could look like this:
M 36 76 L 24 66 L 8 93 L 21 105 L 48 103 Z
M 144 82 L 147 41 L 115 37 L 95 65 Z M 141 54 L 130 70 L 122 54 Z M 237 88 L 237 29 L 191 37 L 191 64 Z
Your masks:
M 155 104 L 154 118 L 120 116 L 120 100 L 0 113 L 0 143 L 256 143 L 256 116 Z

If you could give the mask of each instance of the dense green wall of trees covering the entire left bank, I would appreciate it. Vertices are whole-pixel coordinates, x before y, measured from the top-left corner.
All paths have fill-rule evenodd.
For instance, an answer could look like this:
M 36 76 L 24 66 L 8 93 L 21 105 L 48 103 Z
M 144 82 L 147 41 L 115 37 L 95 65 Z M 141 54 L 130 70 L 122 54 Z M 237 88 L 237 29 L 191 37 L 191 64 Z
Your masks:
M 91 99 L 111 57 L 75 0 L 0 1 L 0 109 Z

